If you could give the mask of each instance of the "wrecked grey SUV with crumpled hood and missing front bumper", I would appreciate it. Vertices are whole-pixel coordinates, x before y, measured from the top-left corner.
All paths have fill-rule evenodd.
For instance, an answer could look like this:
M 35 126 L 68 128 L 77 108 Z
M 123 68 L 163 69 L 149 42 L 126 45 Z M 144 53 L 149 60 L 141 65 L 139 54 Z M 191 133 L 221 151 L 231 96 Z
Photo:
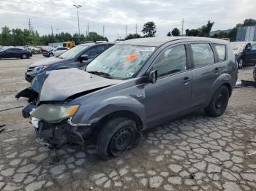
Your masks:
M 197 109 L 223 114 L 237 64 L 230 43 L 220 39 L 145 38 L 116 44 L 86 71 L 52 71 L 42 79 L 42 86 L 30 89 L 39 93 L 37 104 L 23 109 L 23 116 L 31 114 L 37 142 L 83 145 L 94 134 L 99 156 L 109 159 L 165 121 Z

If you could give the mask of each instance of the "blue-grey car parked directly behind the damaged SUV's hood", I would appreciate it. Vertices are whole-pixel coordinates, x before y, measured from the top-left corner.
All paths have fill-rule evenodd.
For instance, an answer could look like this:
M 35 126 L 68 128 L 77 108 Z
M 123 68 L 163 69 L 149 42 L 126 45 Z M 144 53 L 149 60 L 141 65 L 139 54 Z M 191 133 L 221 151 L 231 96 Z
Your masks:
M 112 47 L 115 42 L 92 42 L 80 44 L 64 52 L 58 58 L 51 57 L 31 63 L 25 73 L 25 79 L 31 82 L 32 79 L 44 71 L 83 68 L 87 66 L 100 53 Z

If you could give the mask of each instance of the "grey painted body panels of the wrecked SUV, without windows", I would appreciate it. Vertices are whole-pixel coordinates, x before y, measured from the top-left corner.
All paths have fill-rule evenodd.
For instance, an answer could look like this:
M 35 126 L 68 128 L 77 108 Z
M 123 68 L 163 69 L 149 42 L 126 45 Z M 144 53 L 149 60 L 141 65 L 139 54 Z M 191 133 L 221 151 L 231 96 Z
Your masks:
M 226 44 L 227 61 L 193 69 L 192 60 L 188 57 L 187 71 L 159 78 L 155 84 L 146 82 L 146 75 L 151 71 L 151 65 L 159 52 L 176 44 L 187 44 L 189 47 L 190 42 Z M 61 73 L 54 71 L 45 80 L 40 101 L 64 101 L 70 95 L 110 85 L 70 101 L 69 105 L 80 104 L 78 112 L 71 119 L 72 123 L 93 124 L 113 112 L 127 111 L 137 115 L 143 123 L 143 129 L 146 129 L 163 120 L 170 120 L 203 108 L 208 105 L 211 96 L 220 85 L 227 83 L 233 89 L 236 83 L 237 66 L 229 42 L 197 37 L 176 37 L 165 40 L 135 39 L 120 44 L 146 46 L 154 44 L 159 48 L 134 79 L 123 81 L 105 79 L 74 69 L 67 69 Z M 214 72 L 214 69 L 219 71 Z M 190 80 L 184 82 L 184 77 Z

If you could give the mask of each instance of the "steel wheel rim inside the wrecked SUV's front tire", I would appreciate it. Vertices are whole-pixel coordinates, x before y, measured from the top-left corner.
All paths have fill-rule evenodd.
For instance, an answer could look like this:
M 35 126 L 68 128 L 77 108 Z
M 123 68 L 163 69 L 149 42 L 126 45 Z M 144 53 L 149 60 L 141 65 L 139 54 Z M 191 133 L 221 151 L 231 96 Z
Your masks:
M 134 133 L 132 128 L 121 128 L 116 132 L 110 142 L 110 151 L 114 156 L 121 155 L 121 153 L 125 152 L 129 145 L 132 144 L 133 139 Z

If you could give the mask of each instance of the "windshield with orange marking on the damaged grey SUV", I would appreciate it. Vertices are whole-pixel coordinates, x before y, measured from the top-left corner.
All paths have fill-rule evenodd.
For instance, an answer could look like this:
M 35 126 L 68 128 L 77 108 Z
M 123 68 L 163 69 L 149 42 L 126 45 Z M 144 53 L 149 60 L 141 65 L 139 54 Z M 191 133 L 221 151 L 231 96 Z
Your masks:
M 141 69 L 155 48 L 116 44 L 91 61 L 86 71 L 107 74 L 116 79 L 128 79 Z

